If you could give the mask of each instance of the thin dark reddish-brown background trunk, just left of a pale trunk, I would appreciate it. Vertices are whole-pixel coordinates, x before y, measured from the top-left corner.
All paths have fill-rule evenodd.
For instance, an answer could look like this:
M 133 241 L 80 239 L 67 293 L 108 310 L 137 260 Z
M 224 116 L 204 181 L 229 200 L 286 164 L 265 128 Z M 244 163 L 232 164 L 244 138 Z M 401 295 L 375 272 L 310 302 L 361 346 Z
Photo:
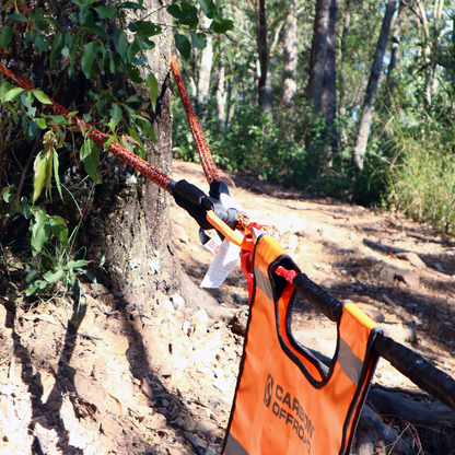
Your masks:
M 267 47 L 266 0 L 257 0 L 257 50 L 259 55 L 260 75 L 258 81 L 258 100 L 262 113 L 272 110 L 271 78 L 269 52 Z

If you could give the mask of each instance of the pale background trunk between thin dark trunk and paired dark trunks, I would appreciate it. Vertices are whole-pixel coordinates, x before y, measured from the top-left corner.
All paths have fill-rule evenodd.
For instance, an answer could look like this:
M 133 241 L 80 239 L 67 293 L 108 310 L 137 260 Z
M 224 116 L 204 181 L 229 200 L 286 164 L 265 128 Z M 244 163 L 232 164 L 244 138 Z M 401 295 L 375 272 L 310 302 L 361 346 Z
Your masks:
M 295 110 L 298 70 L 298 2 L 294 0 L 285 19 L 283 37 L 283 96 L 282 106 Z

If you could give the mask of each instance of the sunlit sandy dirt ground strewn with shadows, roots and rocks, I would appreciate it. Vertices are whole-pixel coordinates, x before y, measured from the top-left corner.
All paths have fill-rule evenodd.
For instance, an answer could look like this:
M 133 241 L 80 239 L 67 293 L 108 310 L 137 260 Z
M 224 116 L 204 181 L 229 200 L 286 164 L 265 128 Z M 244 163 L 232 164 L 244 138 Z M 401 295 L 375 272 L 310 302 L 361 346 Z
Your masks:
M 252 220 L 280 230 L 313 281 L 455 377 L 455 242 L 400 213 L 223 177 Z M 174 178 L 208 189 L 195 164 L 175 163 Z M 192 219 L 175 205 L 171 217 L 182 266 L 199 284 L 213 256 Z M 30 308 L 3 277 L 0 454 L 220 454 L 248 315 L 240 267 L 209 294 L 198 308 L 160 294 L 144 310 L 119 291 L 84 284 L 75 311 L 69 298 Z M 302 345 L 334 353 L 336 327 L 310 304 L 298 303 L 292 329 Z M 434 405 L 423 422 L 417 415 L 382 419 L 416 454 L 455 454 L 455 412 L 383 360 L 372 389 L 416 409 Z M 375 453 L 402 452 L 390 444 Z

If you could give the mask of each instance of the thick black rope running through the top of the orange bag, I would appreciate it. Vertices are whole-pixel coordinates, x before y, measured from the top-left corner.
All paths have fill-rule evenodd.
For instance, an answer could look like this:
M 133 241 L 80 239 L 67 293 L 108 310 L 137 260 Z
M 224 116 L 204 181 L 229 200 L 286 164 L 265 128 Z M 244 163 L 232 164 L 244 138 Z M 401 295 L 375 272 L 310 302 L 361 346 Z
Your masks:
M 330 320 L 338 323 L 343 304 L 305 273 L 299 273 L 292 281 L 300 295 L 323 312 Z M 455 380 L 436 369 L 421 354 L 378 331 L 373 343 L 374 350 L 396 370 L 412 381 L 422 390 L 438 398 L 455 410 Z

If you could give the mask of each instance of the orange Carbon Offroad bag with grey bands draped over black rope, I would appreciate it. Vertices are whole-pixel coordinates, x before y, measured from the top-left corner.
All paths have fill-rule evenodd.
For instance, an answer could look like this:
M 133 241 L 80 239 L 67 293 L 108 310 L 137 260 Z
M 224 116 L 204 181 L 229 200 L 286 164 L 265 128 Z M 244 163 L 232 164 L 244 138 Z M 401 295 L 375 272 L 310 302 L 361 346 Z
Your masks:
M 254 288 L 224 455 L 345 455 L 377 363 L 380 328 L 351 303 L 327 294 L 304 273 L 289 283 L 278 266 L 300 272 L 279 242 L 261 235 L 253 252 Z M 322 291 L 308 291 L 316 287 Z M 295 291 L 337 322 L 330 366 L 291 332 Z M 328 299 L 327 299 L 328 296 Z

